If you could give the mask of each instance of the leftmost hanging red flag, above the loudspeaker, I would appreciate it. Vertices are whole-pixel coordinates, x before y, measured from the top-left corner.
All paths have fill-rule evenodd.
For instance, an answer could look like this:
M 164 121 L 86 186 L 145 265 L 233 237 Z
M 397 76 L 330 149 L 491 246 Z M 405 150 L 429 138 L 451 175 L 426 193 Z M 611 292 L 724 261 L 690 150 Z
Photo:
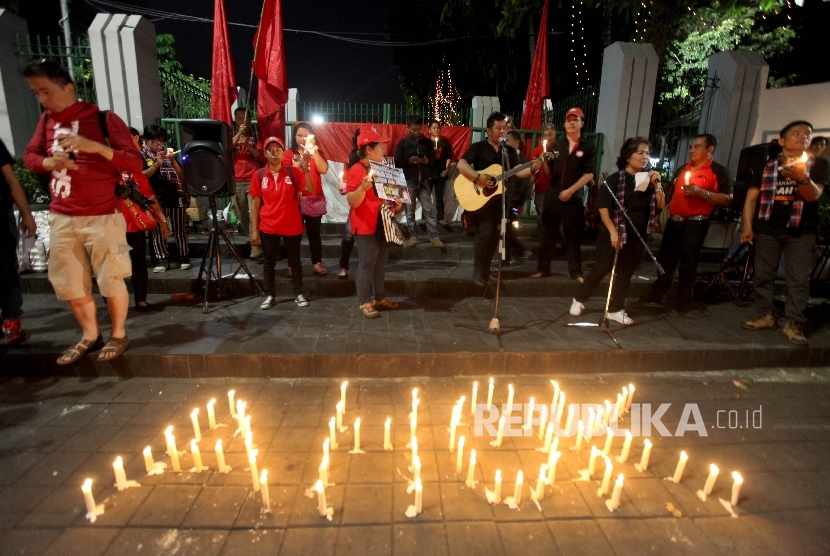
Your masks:
M 228 41 L 225 0 L 216 0 L 213 7 L 213 68 L 210 78 L 210 117 L 233 125 L 231 105 L 237 98 L 236 73 Z

